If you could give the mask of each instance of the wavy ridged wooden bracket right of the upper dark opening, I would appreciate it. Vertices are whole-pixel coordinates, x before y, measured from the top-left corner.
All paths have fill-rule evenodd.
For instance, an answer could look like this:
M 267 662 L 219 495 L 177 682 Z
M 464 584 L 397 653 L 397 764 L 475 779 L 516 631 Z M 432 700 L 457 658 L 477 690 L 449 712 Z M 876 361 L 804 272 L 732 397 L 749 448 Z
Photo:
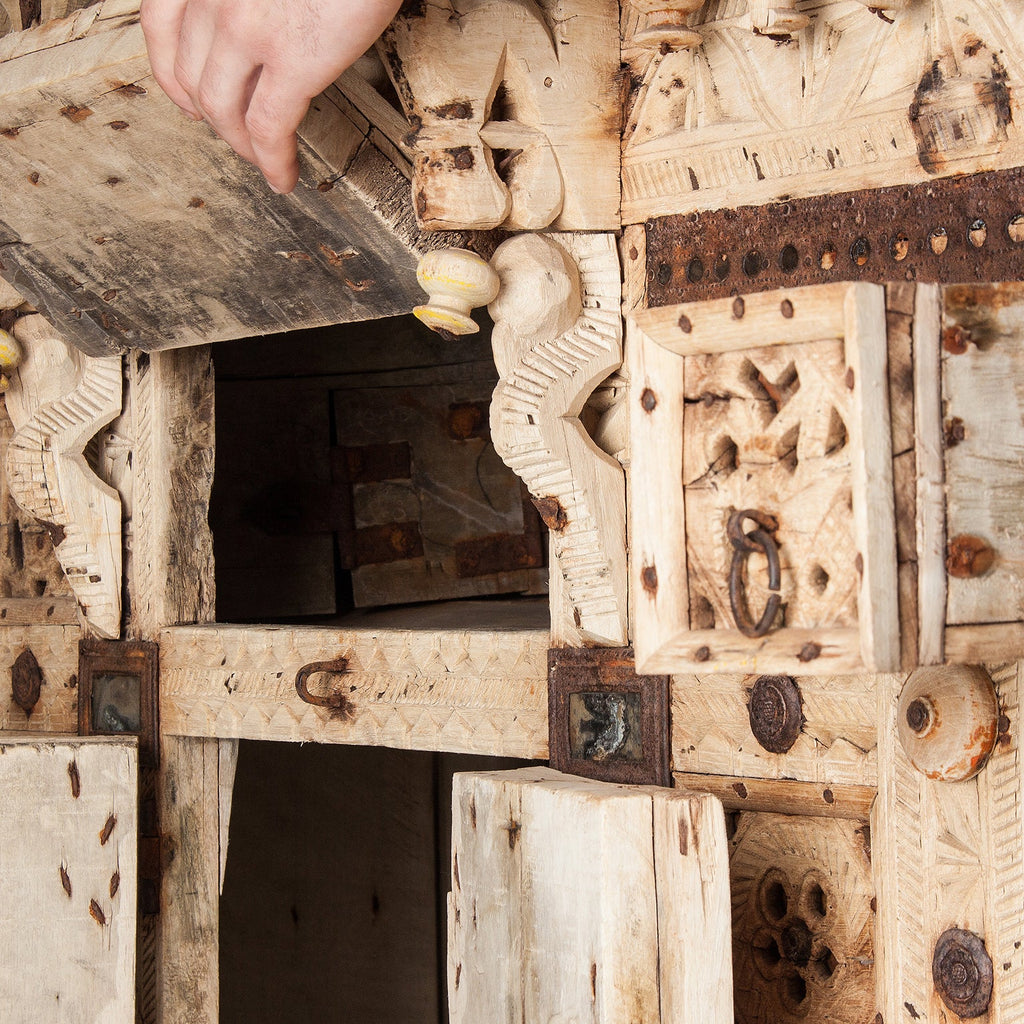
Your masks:
M 623 469 L 579 418 L 594 387 L 622 362 L 614 240 L 519 236 L 499 247 L 493 265 L 502 280 L 488 307 L 502 379 L 490 433 L 551 530 L 552 633 L 566 639 L 564 599 L 577 642 L 625 645 Z

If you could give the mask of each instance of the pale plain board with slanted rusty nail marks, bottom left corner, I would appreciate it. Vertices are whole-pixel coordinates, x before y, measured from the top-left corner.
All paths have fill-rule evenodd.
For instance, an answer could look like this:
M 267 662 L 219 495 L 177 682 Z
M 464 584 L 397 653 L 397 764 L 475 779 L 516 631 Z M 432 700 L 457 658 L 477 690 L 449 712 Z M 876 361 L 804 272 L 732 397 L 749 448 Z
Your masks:
M 5 737 L 0 785 L 4 1016 L 133 1024 L 134 739 Z

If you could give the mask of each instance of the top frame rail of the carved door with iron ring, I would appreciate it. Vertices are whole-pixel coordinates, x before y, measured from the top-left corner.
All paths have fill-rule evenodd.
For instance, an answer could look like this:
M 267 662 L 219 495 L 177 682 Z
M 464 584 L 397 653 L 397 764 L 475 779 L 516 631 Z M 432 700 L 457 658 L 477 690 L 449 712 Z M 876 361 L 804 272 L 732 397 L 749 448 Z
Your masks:
M 849 285 L 821 285 L 684 302 L 642 309 L 632 318 L 645 335 L 679 355 L 821 341 L 846 334 L 849 325 L 843 303 L 849 288 Z M 790 303 L 786 311 L 792 315 L 782 312 L 786 301 Z

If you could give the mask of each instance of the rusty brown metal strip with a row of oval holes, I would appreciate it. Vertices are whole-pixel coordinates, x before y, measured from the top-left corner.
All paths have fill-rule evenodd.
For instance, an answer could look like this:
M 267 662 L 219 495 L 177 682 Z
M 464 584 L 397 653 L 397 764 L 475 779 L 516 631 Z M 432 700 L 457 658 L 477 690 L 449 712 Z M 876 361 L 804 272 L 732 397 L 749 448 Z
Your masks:
M 647 300 L 1024 279 L 1024 168 L 649 220 Z

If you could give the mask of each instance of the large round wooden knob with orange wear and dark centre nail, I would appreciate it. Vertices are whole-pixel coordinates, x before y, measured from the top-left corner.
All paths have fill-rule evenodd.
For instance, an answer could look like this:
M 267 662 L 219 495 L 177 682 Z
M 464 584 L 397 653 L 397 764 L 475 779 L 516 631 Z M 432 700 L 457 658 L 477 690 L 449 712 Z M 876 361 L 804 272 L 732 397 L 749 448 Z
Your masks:
M 971 666 L 919 669 L 900 693 L 897 727 L 918 771 L 943 782 L 973 778 L 998 736 L 991 677 Z

